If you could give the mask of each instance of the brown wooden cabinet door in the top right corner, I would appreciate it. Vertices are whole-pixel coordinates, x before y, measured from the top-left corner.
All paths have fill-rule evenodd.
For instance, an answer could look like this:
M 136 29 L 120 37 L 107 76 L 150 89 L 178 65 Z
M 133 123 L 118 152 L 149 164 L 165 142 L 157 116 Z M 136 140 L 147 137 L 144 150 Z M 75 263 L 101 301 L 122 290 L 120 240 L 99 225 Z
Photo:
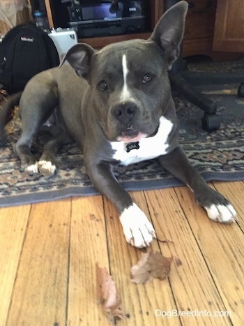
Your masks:
M 243 0 L 218 0 L 213 50 L 244 52 Z

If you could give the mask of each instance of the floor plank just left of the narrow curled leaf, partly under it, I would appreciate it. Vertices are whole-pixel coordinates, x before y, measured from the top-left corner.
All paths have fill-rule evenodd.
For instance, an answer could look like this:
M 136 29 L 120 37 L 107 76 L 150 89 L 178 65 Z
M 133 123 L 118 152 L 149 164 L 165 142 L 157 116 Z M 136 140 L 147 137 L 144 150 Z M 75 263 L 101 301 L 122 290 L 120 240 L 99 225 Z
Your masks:
M 109 271 L 102 196 L 73 198 L 67 325 L 107 325 L 98 305 L 96 262 Z

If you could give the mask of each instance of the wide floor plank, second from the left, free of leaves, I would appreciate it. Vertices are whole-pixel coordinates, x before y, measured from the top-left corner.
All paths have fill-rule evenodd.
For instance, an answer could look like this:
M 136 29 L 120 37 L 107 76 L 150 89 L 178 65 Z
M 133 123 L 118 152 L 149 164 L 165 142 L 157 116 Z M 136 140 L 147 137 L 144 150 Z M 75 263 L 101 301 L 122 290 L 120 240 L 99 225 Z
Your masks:
M 65 325 L 70 207 L 32 205 L 6 326 Z

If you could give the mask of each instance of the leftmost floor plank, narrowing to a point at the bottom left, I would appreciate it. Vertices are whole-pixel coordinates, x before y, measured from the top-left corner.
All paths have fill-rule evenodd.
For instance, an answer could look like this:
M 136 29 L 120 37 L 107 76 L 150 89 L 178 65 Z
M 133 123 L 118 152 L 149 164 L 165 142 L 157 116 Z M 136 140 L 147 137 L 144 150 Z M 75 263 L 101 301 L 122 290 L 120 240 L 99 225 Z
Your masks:
M 0 209 L 0 325 L 6 323 L 31 205 Z

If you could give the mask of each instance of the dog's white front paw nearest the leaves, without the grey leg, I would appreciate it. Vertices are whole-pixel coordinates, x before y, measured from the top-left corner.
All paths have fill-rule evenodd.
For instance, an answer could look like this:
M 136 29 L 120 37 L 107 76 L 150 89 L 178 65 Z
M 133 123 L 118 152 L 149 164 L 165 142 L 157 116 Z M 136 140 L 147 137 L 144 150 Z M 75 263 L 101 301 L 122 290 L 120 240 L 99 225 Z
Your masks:
M 132 246 L 144 248 L 149 246 L 153 237 L 156 237 L 153 225 L 135 203 L 124 209 L 120 221 L 125 239 Z

